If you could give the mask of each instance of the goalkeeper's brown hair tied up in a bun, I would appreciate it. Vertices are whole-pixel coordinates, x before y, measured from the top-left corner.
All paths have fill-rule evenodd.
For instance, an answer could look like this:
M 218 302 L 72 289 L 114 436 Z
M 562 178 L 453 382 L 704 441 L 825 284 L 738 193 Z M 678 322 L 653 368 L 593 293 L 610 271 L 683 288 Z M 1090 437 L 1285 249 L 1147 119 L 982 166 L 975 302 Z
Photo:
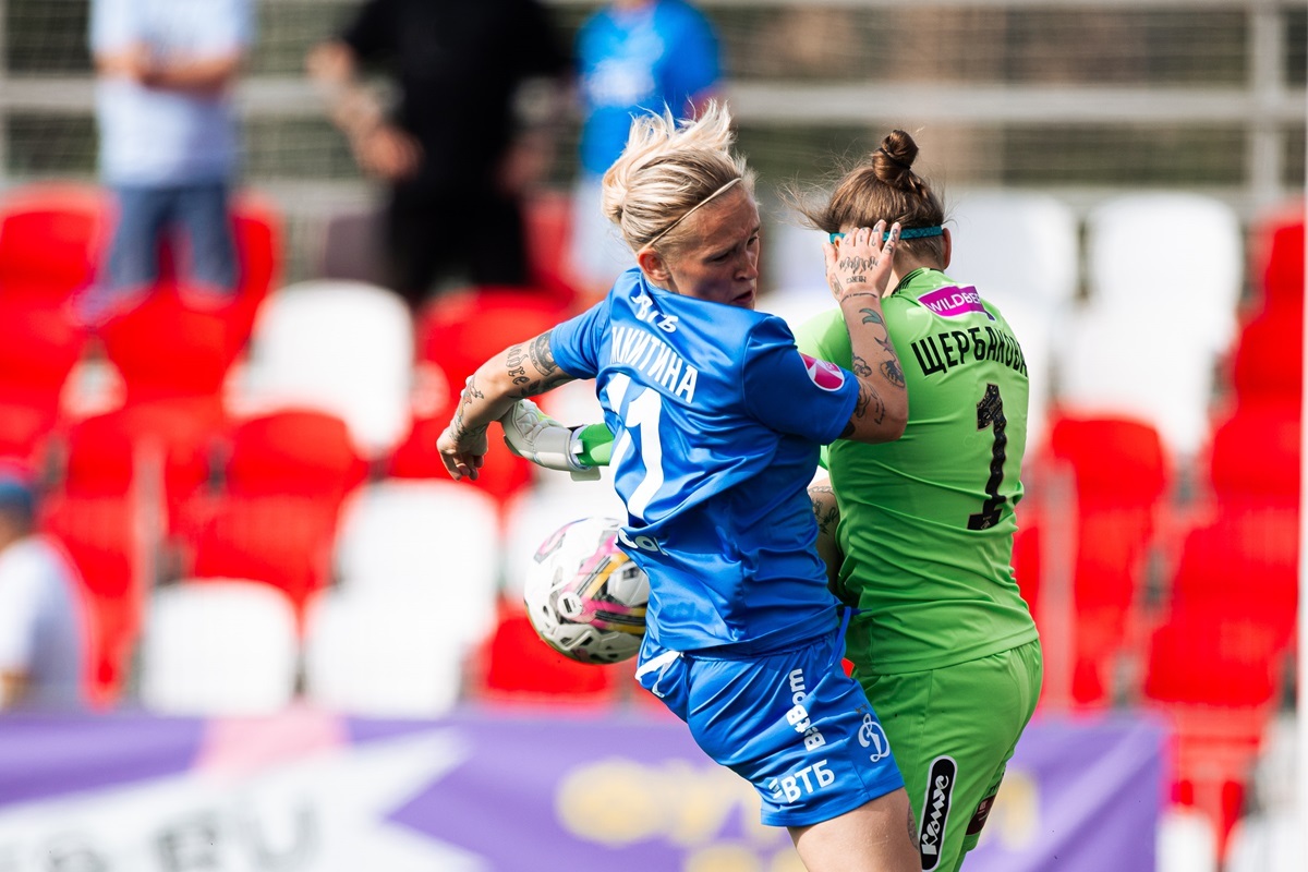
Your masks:
M 836 183 L 825 203 L 808 203 L 791 195 L 795 208 L 819 230 L 836 233 L 841 227 L 871 227 L 899 221 L 905 230 L 933 227 L 944 222 L 944 207 L 930 186 L 913 171 L 917 143 L 904 131 L 891 131 L 872 153 L 849 169 Z M 917 256 L 944 259 L 942 237 L 900 241 L 900 248 Z

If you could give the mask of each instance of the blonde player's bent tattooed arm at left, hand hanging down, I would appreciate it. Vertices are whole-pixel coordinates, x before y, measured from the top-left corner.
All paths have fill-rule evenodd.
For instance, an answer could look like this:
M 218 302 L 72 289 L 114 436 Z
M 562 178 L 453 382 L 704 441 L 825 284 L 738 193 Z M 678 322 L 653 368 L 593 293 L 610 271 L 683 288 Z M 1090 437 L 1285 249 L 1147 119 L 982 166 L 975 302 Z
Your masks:
M 441 460 L 450 476 L 476 478 L 485 459 L 487 428 L 498 421 L 514 403 L 572 382 L 555 362 L 549 333 L 510 345 L 468 377 L 459 404 L 437 441 Z

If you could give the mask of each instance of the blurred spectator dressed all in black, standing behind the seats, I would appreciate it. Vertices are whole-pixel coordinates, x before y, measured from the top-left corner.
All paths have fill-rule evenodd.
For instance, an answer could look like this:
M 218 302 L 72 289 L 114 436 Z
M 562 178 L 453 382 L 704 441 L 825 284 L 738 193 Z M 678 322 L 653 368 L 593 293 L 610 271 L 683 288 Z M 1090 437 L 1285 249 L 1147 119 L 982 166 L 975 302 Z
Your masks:
M 388 186 L 387 284 L 411 307 L 442 284 L 531 284 L 522 197 L 549 154 L 539 127 L 522 137 L 522 103 L 562 93 L 555 33 L 538 0 L 368 0 L 310 51 L 332 120 Z M 398 86 L 391 112 L 362 80 L 373 63 Z

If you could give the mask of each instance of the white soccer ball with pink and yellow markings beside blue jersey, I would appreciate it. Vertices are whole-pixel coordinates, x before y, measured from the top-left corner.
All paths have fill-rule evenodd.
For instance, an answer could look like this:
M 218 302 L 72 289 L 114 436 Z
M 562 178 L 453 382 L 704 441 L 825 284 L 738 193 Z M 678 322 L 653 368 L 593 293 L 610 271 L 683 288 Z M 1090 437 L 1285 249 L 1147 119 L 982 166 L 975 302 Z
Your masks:
M 564 524 L 536 550 L 523 600 L 536 634 L 581 663 L 636 656 L 645 635 L 649 579 L 617 546 L 613 518 Z

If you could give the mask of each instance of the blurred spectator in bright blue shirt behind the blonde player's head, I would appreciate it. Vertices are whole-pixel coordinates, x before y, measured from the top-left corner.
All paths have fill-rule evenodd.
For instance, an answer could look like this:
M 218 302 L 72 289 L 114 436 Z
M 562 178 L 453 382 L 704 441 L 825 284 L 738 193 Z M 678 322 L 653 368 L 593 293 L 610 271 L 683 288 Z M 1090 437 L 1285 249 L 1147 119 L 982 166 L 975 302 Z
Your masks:
M 581 167 L 573 204 L 572 273 L 598 295 L 636 258 L 600 209 L 600 179 L 623 153 L 634 112 L 695 115 L 719 89 L 718 38 L 684 0 L 611 0 L 577 33 Z

